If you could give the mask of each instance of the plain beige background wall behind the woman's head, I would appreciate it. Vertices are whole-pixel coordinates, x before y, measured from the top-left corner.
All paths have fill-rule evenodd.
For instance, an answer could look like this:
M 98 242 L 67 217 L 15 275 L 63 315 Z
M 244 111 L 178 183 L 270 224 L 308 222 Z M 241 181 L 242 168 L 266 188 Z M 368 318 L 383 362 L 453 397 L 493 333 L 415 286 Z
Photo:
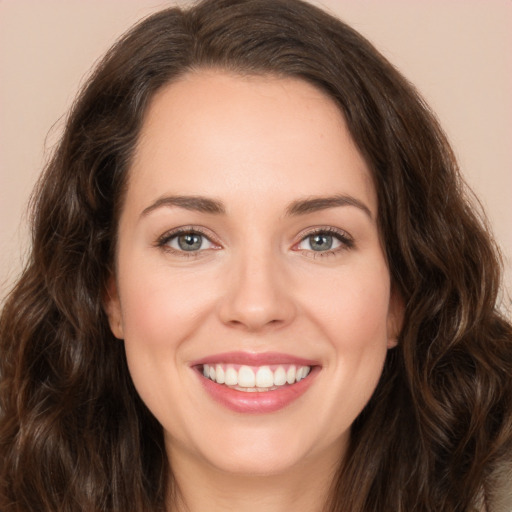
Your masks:
M 179 2 L 184 4 L 186 2 Z M 512 1 L 323 0 L 437 112 L 481 198 L 512 290 Z M 155 0 L 0 0 L 0 299 L 27 251 L 26 206 L 87 71 Z M 506 299 L 509 307 L 510 299 Z

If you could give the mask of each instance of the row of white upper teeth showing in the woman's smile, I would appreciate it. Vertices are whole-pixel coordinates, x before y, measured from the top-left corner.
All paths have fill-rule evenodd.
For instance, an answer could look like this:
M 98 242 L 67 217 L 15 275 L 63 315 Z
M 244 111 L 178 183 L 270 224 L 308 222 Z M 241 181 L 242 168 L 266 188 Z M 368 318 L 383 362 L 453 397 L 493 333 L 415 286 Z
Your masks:
M 311 367 L 290 365 L 250 367 L 240 366 L 238 371 L 229 364 L 203 365 L 203 375 L 217 382 L 241 388 L 243 391 L 270 391 L 285 384 L 295 384 L 309 375 Z

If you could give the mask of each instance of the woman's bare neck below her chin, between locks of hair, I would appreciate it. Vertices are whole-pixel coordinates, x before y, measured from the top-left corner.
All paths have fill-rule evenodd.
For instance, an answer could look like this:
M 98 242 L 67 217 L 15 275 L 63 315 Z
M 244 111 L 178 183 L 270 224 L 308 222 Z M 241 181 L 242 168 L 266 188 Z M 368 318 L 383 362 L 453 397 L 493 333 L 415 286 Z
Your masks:
M 171 460 L 174 497 L 169 512 L 322 512 L 339 454 L 301 461 L 284 473 L 258 475 L 225 472 L 193 457 Z

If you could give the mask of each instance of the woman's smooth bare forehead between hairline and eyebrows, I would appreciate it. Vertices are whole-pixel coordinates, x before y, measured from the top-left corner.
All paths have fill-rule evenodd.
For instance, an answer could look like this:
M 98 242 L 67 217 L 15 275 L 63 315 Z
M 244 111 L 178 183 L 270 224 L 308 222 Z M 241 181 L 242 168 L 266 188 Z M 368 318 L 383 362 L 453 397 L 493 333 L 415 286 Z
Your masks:
M 350 192 L 377 208 L 368 166 L 334 100 L 300 79 L 213 70 L 189 73 L 153 98 L 130 171 L 134 191 L 146 200 Z

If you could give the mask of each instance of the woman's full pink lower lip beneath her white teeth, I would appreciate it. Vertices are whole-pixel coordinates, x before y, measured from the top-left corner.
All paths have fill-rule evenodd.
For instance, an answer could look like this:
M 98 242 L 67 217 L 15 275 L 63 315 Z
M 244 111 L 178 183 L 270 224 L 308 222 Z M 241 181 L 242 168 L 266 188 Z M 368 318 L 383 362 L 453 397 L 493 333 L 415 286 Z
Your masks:
M 238 391 L 207 379 L 199 371 L 201 383 L 206 392 L 218 403 L 235 412 L 263 414 L 279 411 L 301 397 L 313 384 L 320 371 L 319 366 L 311 368 L 308 376 L 299 382 L 285 385 L 272 391 Z

